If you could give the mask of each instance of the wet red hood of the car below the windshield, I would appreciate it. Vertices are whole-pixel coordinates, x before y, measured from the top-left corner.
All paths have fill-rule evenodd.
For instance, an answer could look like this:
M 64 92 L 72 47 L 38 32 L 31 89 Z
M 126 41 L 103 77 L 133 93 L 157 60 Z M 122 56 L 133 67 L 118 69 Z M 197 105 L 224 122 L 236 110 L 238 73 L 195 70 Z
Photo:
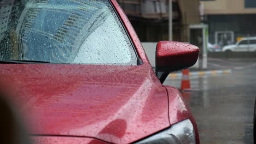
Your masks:
M 0 88 L 30 133 L 129 143 L 170 126 L 166 89 L 148 65 L 0 64 Z

